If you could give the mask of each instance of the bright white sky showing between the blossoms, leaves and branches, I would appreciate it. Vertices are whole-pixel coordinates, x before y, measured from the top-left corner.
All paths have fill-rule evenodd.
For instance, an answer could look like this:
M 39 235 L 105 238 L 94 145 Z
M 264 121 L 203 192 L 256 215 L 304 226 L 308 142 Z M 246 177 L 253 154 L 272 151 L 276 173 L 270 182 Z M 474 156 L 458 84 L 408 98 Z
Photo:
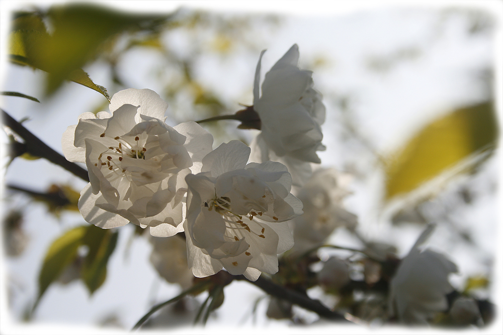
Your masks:
M 37 5 L 49 3 L 52 2 L 41 1 L 37 2 Z M 120 5 L 118 2 L 100 3 L 135 11 L 157 10 L 159 4 L 159 2 L 150 1 L 120 2 Z M 323 126 L 323 143 L 327 151 L 320 154 L 323 166 L 343 168 L 344 162 L 352 154 L 352 150 L 344 147 L 344 143 L 340 140 L 338 115 L 330 113 L 330 108 L 334 107 L 334 103 L 333 100 L 331 102 L 328 99 L 329 97 L 341 94 L 354 96 L 355 115 L 361 131 L 379 151 L 389 152 L 395 149 L 398 143 L 405 141 L 410 134 L 453 106 L 477 102 L 485 98 L 484 92 L 473 89 L 473 82 L 469 76 L 470 70 L 495 64 L 498 69 L 496 71 L 498 87 L 501 87 L 501 63 L 493 60 L 503 59 L 501 43 L 494 43 L 494 41 L 501 41 L 502 21 L 499 2 L 476 3 L 478 8 L 485 8 L 497 19 L 497 35 L 495 34 L 493 41 L 487 38 L 467 38 L 463 31 L 466 22 L 459 18 L 442 21 L 436 12 L 437 2 L 428 2 L 426 5 L 425 2 L 421 2 L 421 6 L 417 2 L 407 2 L 406 6 L 404 2 L 335 2 L 337 8 L 333 6 L 333 2 L 295 3 L 297 6 L 285 6 L 286 2 L 271 1 L 240 2 L 239 5 L 236 5 L 236 2 L 162 2 L 162 4 L 166 6 L 165 9 L 163 8 L 166 12 L 183 4 L 219 11 L 274 12 L 289 15 L 278 31 L 263 38 L 265 41 L 263 48 L 268 51 L 263 58 L 262 75 L 294 43 L 299 45 L 301 66 L 308 65 L 312 59 L 319 56 L 327 59 L 326 65 L 313 69 L 315 88 L 324 95 L 327 106 L 327 120 Z M 459 2 L 442 2 L 442 6 L 459 4 Z M 32 96 L 40 96 L 40 88 L 36 85 L 42 78 L 40 72 L 5 63 L 4 48 L 8 29 L 6 24 L 9 21 L 6 9 L 19 8 L 21 5 L 27 6 L 28 3 L 9 1 L 1 3 L 2 91 L 19 91 Z M 405 58 L 386 73 L 369 71 L 366 66 L 370 56 L 389 56 L 404 47 L 419 50 L 418 56 Z M 137 61 L 133 58 L 131 57 L 132 62 Z M 155 56 L 152 56 L 151 60 L 155 59 Z M 209 62 L 206 67 L 201 67 L 203 70 L 199 75 L 203 82 L 222 88 L 224 91 L 226 86 L 230 86 L 229 81 L 240 78 L 241 82 L 236 84 L 239 89 L 236 89 L 236 85 L 232 85 L 233 89 L 229 90 L 229 95 L 235 99 L 242 96 L 251 98 L 251 85 L 253 85 L 253 73 L 258 55 L 247 57 L 245 60 L 231 69 L 228 63 Z M 148 87 L 154 90 L 157 87 L 160 88 L 161 83 L 155 82 L 149 73 L 148 59 L 141 59 L 141 61 L 143 63 L 141 70 L 134 67 L 135 71 L 131 71 L 130 82 L 134 83 L 136 88 Z M 128 71 L 128 65 L 129 69 L 133 68 L 131 64 L 124 64 L 125 71 Z M 107 73 L 102 73 L 102 70 L 100 66 L 86 69 L 96 83 L 107 86 Z M 84 111 L 89 111 L 91 106 L 97 105 L 100 99 L 101 97 L 96 92 L 69 83 L 44 104 L 36 104 L 26 99 L 3 97 L 2 108 L 17 120 L 30 117 L 31 120 L 26 123 L 27 127 L 51 147 L 60 150 L 61 135 L 66 127 L 74 125 L 77 116 Z M 497 101 L 501 123 L 500 95 Z M 251 101 L 236 102 L 250 103 Z M 6 136 L 5 134 L 1 136 L 4 142 Z M 362 152 L 361 149 L 360 152 Z M 2 153 L 4 156 L 5 150 Z M 501 150 L 487 165 L 487 175 L 500 174 L 498 170 L 500 161 Z M 368 157 L 364 157 L 360 164 L 364 166 L 368 162 Z M 2 157 L 2 167 L 4 166 L 5 158 Z M 6 173 L 4 169 L 3 173 Z M 355 195 L 348 199 L 347 205 L 359 214 L 361 230 L 367 237 L 373 239 L 389 237 L 390 242 L 397 245 L 399 255 L 404 255 L 422 228 L 396 228 L 386 222 L 377 221 L 376 206 L 380 178 L 378 173 L 374 173 L 367 181 L 356 183 L 353 186 Z M 69 183 L 75 189 L 80 189 L 86 184 L 44 160 L 30 162 L 15 160 L 7 170 L 5 179 L 13 184 L 29 185 L 33 189 L 45 189 L 52 182 Z M 481 178 L 482 189 L 484 182 L 485 179 Z M 494 234 L 497 230 L 495 226 L 501 219 L 500 211 L 499 219 L 494 216 L 501 200 L 501 180 L 499 182 L 498 197 L 488 196 L 481 199 L 478 206 L 468 208 L 463 213 L 468 218 L 467 228 L 477 225 L 477 230 L 474 230 L 474 239 L 479 250 L 474 252 L 461 249 L 452 241 L 448 241 L 449 229 L 447 227 L 439 227 L 438 234 L 430 241 L 429 245 L 448 253 L 449 257 L 460 267 L 462 275 L 457 279 L 453 278 L 453 283 L 462 283 L 462 279 L 466 278 L 467 274 L 487 271 L 489 266 L 482 262 L 487 255 L 501 255 L 501 229 L 499 228 L 499 236 Z M 46 207 L 28 202 L 23 197 L 14 198 L 13 203 L 16 206 L 29 205 L 31 207 L 25 217 L 25 227 L 30 235 L 30 243 L 20 258 L 11 260 L 4 256 L 2 260 L 3 328 L 7 311 L 5 283 L 8 278 L 12 277 L 20 283 L 20 286 L 15 288 L 18 298 L 14 300 L 11 307 L 14 318 L 17 319 L 30 300 L 36 296 L 39 267 L 50 243 L 69 227 L 83 224 L 78 213 L 64 213 L 60 220 L 55 222 L 52 216 L 48 216 Z M 9 208 L 9 204 L 3 202 L 3 208 L 5 207 Z M 6 210 L 3 210 L 3 217 L 5 213 Z M 126 256 L 125 249 L 132 230 L 130 227 L 124 229 L 129 231 L 129 234 L 119 235 L 118 247 L 109 263 L 108 277 L 103 287 L 89 298 L 87 290 L 81 283 L 74 282 L 67 286 L 53 285 L 39 305 L 35 313 L 35 321 L 49 323 L 51 326 L 77 324 L 80 327 L 72 327 L 72 333 L 80 331 L 87 333 L 88 330 L 81 326 L 96 323 L 104 319 L 108 313 L 114 312 L 119 316 L 120 323 L 126 329 L 130 329 L 149 308 L 152 287 L 156 285 L 158 287 L 155 293 L 158 302 L 178 294 L 179 288 L 161 281 L 148 263 L 150 246 L 146 240 L 135 239 Z M 345 235 L 344 232 L 334 235 L 331 241 L 348 246 L 357 243 L 354 238 Z M 496 251 L 495 248 L 499 250 Z M 500 273 L 500 259 L 495 264 L 498 266 L 496 272 Z M 496 281 L 501 282 L 500 275 L 499 280 Z M 501 288 L 494 289 L 494 296 L 500 297 Z M 225 289 L 225 303 L 217 312 L 218 318 L 210 319 L 208 322 L 209 330 L 216 331 L 217 328 L 214 327 L 220 327 L 221 324 L 238 325 L 237 320 L 241 320 L 246 313 L 250 312 L 254 299 L 261 295 L 260 290 L 243 282 L 229 285 Z M 287 330 L 285 322 L 267 319 L 264 316 L 266 308 L 265 302 L 259 305 L 257 313 L 259 325 L 278 326 L 283 331 L 291 331 L 291 328 Z M 246 324 L 251 324 L 251 318 L 248 318 L 246 322 Z M 18 326 L 12 329 L 17 329 L 13 331 L 19 333 L 35 333 L 44 330 L 40 328 L 40 325 L 37 325 L 37 328 Z M 65 333 L 65 331 L 67 331 L 66 328 L 57 328 L 55 333 Z M 188 328 L 179 329 L 179 331 L 195 330 Z M 240 332 L 243 331 L 240 330 Z M 313 328 L 295 328 L 297 333 L 303 331 L 310 332 Z M 333 328 L 316 329 L 318 333 L 323 331 L 333 331 Z M 389 329 L 381 329 L 373 330 L 372 333 L 381 331 L 390 332 Z M 392 331 L 401 332 L 402 330 Z

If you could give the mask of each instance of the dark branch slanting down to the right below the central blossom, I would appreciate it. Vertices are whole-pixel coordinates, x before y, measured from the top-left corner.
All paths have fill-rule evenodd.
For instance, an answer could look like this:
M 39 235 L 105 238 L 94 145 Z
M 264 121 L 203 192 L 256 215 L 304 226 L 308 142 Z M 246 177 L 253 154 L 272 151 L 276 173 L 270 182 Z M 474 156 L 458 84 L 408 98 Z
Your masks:
M 262 276 L 259 277 L 259 279 L 257 279 L 256 281 L 250 281 L 246 279 L 243 275 L 235 276 L 234 279 L 246 280 L 251 284 L 260 287 L 267 294 L 270 294 L 280 299 L 290 301 L 291 303 L 299 305 L 302 308 L 311 310 L 317 313 L 320 317 L 323 317 L 325 319 L 350 322 L 344 317 L 344 315 L 328 309 L 325 305 L 319 302 L 319 300 L 313 300 L 305 294 L 278 285 Z

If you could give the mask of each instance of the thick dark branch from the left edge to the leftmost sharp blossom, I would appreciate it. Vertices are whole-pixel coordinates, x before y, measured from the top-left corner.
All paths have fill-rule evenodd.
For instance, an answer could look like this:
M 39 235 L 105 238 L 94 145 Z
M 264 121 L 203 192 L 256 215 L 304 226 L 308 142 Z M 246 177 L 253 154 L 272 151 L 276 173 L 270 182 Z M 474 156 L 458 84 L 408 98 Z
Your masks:
M 75 163 L 69 162 L 63 155 L 53 150 L 42 142 L 38 137 L 33 135 L 19 122 L 14 120 L 5 110 L 2 109 L 2 123 L 11 128 L 16 134 L 25 140 L 26 152 L 33 156 L 43 157 L 49 162 L 57 164 L 62 168 L 70 171 L 74 175 L 89 182 L 88 171 Z

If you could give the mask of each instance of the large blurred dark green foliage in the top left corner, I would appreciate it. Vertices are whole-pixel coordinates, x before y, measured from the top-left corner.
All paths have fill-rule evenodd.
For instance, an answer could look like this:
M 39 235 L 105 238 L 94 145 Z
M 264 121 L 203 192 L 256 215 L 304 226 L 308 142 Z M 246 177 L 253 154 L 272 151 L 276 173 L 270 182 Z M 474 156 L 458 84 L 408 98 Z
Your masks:
M 81 70 L 103 52 L 106 42 L 126 31 L 154 29 L 166 15 L 124 14 L 102 6 L 68 3 L 53 6 L 47 17 L 53 33 L 48 34 L 36 13 L 18 17 L 11 33 L 11 60 L 49 73 L 46 93 L 72 80 L 90 87 L 108 99 L 106 90 L 95 85 Z

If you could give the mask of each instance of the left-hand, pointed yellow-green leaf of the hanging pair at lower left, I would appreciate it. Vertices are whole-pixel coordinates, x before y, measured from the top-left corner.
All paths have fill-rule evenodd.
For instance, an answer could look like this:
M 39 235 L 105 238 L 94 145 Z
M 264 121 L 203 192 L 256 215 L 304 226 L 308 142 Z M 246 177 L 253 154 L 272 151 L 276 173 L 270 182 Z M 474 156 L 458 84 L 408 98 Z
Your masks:
M 45 255 L 42 269 L 38 277 L 38 298 L 33 309 L 36 308 L 42 295 L 52 282 L 77 257 L 78 247 L 82 245 L 82 237 L 86 235 L 88 226 L 80 226 L 67 231 L 57 238 L 49 247 Z

